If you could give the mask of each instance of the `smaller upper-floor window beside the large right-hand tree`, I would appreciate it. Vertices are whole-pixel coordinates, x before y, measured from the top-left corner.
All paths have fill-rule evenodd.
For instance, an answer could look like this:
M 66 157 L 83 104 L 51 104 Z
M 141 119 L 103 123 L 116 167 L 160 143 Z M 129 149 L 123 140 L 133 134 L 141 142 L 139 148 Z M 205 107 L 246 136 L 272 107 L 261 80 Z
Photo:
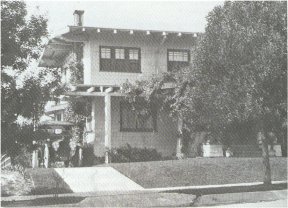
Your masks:
M 181 49 L 168 49 L 167 51 L 168 71 L 179 70 L 190 63 L 190 51 Z

